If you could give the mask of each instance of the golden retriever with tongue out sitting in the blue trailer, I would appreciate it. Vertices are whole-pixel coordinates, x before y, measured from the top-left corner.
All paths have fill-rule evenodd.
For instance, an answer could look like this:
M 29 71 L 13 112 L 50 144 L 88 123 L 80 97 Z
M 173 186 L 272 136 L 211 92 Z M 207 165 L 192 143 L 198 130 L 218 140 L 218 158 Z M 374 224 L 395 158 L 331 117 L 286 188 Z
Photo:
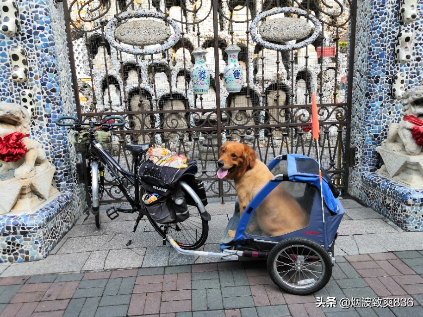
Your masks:
M 267 166 L 257 159 L 254 150 L 238 142 L 226 142 L 217 162 L 220 179 L 233 179 L 240 202 L 240 212 L 273 178 Z M 308 225 L 309 215 L 282 185 L 278 185 L 254 211 L 255 225 L 262 236 L 279 236 Z M 250 224 L 248 225 L 250 227 Z M 249 228 L 250 231 L 251 228 Z M 230 233 L 231 234 L 231 233 Z M 232 233 L 233 234 L 233 233 Z M 232 235 L 231 234 L 231 235 Z

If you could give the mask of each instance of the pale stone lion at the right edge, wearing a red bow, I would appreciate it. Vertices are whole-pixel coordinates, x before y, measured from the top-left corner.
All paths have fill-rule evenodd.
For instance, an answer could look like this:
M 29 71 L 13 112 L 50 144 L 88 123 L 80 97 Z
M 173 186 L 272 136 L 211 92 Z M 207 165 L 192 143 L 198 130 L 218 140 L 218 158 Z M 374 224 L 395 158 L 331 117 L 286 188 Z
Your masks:
M 408 89 L 402 98 L 402 112 L 404 115 L 413 115 L 423 119 L 423 87 Z M 408 155 L 418 155 L 422 146 L 418 145 L 413 138 L 412 128 L 415 126 L 404 118 L 400 123 L 391 123 L 388 128 L 386 140 L 382 142 L 382 148 L 386 150 L 401 152 L 406 151 Z

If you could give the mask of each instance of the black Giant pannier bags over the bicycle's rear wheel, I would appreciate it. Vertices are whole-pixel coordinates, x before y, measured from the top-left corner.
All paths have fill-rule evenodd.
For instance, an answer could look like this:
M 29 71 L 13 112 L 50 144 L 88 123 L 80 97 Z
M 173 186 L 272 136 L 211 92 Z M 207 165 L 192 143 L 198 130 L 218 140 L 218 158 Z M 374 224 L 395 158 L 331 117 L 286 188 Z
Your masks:
M 188 167 L 186 168 L 160 166 L 150 160 L 140 164 L 138 169 L 139 180 L 146 193 L 163 196 L 151 204 L 144 202 L 147 211 L 156 222 L 175 223 L 188 218 L 187 204 L 195 205 L 195 202 L 178 184 L 180 180 L 185 181 L 195 191 L 204 206 L 207 205 L 204 185 L 201 181 L 195 179 L 197 162 L 188 159 L 187 164 Z

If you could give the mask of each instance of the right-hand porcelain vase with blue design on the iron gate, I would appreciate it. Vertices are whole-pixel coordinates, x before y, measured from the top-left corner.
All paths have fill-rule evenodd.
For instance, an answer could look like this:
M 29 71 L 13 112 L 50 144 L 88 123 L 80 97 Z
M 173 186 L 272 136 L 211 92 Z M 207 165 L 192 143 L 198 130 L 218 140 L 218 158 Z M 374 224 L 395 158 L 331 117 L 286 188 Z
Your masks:
M 241 49 L 237 45 L 230 45 L 225 52 L 228 54 L 228 65 L 223 73 L 225 87 L 228 93 L 238 93 L 242 88 L 242 67 L 238 62 L 238 54 Z

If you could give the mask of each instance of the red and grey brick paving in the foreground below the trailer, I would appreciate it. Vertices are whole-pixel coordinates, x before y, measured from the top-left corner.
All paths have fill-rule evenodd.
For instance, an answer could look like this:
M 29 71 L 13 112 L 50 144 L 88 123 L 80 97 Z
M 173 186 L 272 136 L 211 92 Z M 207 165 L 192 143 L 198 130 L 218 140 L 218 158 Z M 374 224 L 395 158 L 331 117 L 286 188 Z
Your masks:
M 309 296 L 280 291 L 252 261 L 3 277 L 0 317 L 422 317 L 422 268 L 423 251 L 338 256 L 329 283 Z M 336 297 L 336 307 L 316 307 L 316 297 Z M 343 309 L 341 298 L 412 306 Z

